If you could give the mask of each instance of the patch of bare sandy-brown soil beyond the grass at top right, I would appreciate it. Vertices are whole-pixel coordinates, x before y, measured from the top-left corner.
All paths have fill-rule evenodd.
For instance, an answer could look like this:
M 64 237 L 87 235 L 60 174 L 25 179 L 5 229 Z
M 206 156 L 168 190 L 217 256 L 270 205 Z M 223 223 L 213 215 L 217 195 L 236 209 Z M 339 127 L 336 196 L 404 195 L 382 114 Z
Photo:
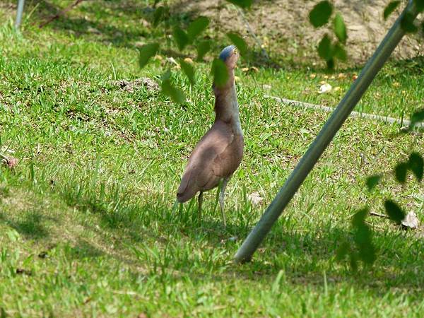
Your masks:
M 241 14 L 235 6 L 220 4 L 216 0 L 186 1 L 175 10 L 208 16 L 216 23 L 220 33 L 235 31 L 254 45 L 246 22 L 257 35 L 267 52 L 273 57 L 293 57 L 298 61 L 318 60 L 316 49 L 324 33 L 333 35 L 327 27 L 314 29 L 308 20 L 308 14 L 316 1 L 276 0 L 256 1 L 252 10 Z M 343 15 L 348 28 L 346 49 L 350 61 L 365 61 L 389 30 L 399 9 L 384 21 L 382 14 L 389 0 L 335 0 L 336 12 Z M 404 4 L 401 6 L 403 8 Z M 419 18 L 423 18 L 422 16 Z M 218 21 L 218 23 L 217 23 Z M 331 28 L 331 23 L 329 23 Z M 408 59 L 424 55 L 423 35 L 407 35 L 394 52 L 398 59 Z

